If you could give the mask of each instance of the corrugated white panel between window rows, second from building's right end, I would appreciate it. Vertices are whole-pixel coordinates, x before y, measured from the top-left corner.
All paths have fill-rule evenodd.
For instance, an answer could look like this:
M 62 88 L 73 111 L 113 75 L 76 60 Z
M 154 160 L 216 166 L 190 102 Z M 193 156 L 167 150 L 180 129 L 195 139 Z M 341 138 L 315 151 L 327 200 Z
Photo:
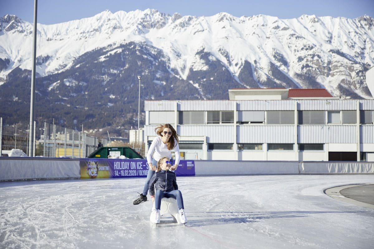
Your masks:
M 299 125 L 298 143 L 356 143 L 355 125 Z

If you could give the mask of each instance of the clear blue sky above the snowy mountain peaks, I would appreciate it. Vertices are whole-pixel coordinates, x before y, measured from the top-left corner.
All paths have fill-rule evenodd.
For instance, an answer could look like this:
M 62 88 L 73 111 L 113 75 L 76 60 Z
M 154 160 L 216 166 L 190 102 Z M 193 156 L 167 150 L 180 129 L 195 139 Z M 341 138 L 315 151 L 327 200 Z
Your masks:
M 106 9 L 156 9 L 172 15 L 211 16 L 227 12 L 234 16 L 270 15 L 279 18 L 297 18 L 303 14 L 357 18 L 374 17 L 374 0 L 39 0 L 38 23 L 54 24 L 90 17 Z M 17 15 L 33 22 L 34 0 L 0 0 L 0 16 Z

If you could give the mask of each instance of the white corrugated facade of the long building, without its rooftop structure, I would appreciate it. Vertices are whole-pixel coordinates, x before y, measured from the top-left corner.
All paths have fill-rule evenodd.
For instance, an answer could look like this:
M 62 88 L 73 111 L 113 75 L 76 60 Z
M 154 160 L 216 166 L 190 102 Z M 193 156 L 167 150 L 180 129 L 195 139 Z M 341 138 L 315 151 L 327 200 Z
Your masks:
M 184 159 L 374 161 L 374 100 L 280 94 L 268 100 L 266 94 L 252 100 L 238 94 L 232 100 L 145 101 L 146 148 L 154 128 L 169 123 L 181 136 Z

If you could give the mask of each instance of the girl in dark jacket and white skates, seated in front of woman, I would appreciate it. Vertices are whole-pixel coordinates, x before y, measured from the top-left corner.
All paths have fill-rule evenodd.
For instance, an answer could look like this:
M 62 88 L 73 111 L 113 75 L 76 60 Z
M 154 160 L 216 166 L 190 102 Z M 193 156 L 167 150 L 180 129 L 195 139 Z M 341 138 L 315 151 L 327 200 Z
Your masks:
M 154 215 L 155 224 L 160 223 L 160 207 L 161 199 L 174 198 L 177 199 L 177 205 L 179 209 L 179 216 L 181 223 L 187 223 L 186 215 L 184 214 L 183 196 L 180 190 L 178 190 L 177 178 L 175 173 L 170 171 L 171 162 L 167 157 L 161 158 L 157 163 L 157 172 L 151 178 L 149 183 L 149 194 L 154 196 L 154 185 L 156 184 L 156 195 L 154 196 L 154 209 L 152 212 L 156 212 Z

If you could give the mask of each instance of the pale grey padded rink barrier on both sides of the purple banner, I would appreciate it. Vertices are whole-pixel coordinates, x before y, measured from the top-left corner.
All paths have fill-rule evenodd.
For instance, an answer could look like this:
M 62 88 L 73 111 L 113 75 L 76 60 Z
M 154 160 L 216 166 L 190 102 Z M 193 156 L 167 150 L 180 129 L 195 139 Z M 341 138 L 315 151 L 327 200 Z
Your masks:
M 79 179 L 81 178 L 80 161 L 82 160 L 86 160 L 86 158 L 61 159 L 0 157 L 0 181 Z M 194 160 L 194 171 L 196 176 L 374 174 L 374 162 Z

